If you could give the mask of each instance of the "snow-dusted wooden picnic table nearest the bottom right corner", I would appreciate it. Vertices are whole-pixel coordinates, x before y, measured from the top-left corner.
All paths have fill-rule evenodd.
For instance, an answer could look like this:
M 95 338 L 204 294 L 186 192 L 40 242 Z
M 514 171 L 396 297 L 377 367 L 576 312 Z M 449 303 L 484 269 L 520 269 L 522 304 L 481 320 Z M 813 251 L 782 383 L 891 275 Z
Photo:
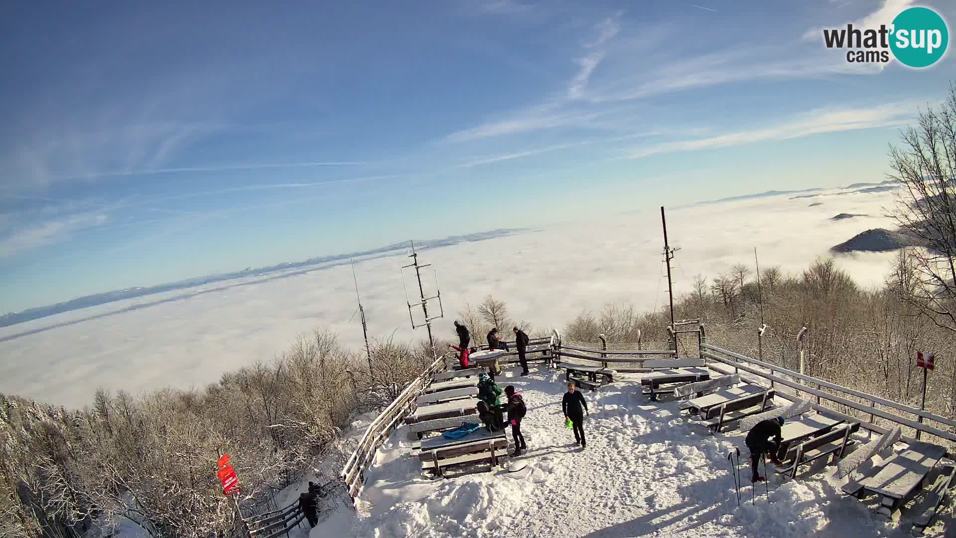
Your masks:
M 880 514 L 896 519 L 900 505 L 923 485 L 926 475 L 945 456 L 942 446 L 915 441 L 891 460 L 870 469 L 860 480 L 851 480 L 843 492 L 861 499 L 866 492 L 880 495 Z

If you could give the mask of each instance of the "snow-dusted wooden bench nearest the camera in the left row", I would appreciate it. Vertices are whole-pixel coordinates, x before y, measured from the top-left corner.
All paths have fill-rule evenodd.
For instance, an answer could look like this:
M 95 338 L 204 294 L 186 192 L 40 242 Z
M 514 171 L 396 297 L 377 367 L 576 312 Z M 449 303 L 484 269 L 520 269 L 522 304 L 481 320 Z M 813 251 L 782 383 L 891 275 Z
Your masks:
M 418 457 L 422 470 L 431 470 L 444 477 L 442 469 L 451 465 L 489 460 L 489 470 L 498 464 L 498 459 L 507 454 L 508 437 L 505 432 L 491 433 L 482 428 L 460 439 L 431 437 L 419 444 Z

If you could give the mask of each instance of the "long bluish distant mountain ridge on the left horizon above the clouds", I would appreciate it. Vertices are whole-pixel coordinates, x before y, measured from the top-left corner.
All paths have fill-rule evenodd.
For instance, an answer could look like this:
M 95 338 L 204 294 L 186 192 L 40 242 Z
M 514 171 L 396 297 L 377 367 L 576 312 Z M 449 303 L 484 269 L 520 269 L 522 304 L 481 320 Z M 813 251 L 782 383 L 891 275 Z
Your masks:
M 415 248 L 417 250 L 427 250 L 438 247 L 445 247 L 450 245 L 455 245 L 459 243 L 466 243 L 471 241 L 484 241 L 494 237 L 501 237 L 505 235 L 513 235 L 523 232 L 529 232 L 528 228 L 500 228 L 498 230 L 491 230 L 489 232 L 478 232 L 475 234 L 468 235 L 449 235 L 444 239 L 427 239 L 427 240 L 416 240 Z M 134 299 L 137 297 L 142 297 L 144 295 L 153 295 L 156 293 L 163 293 L 165 291 L 173 291 L 178 289 L 185 289 L 190 287 L 195 287 L 202 284 L 207 284 L 211 282 L 218 282 L 222 280 L 232 280 L 239 279 L 242 277 L 250 277 L 255 275 L 262 275 L 266 273 L 272 273 L 275 271 L 282 271 L 286 269 L 293 269 L 296 267 L 307 267 L 310 265 L 318 265 L 319 263 L 328 263 L 330 261 L 338 261 L 342 259 L 348 259 L 350 256 L 356 258 L 368 258 L 368 257 L 381 257 L 388 256 L 396 251 L 400 251 L 408 247 L 408 242 L 404 241 L 402 243 L 395 243 L 380 247 L 377 249 L 356 252 L 351 254 L 337 254 L 330 256 L 322 256 L 316 258 L 309 258 L 303 261 L 284 261 L 282 263 L 277 263 L 275 265 L 270 265 L 267 267 L 258 267 L 251 268 L 247 267 L 242 271 L 236 271 L 232 273 L 222 273 L 218 275 L 207 275 L 205 277 L 197 277 L 194 279 L 179 280 L 176 282 L 168 282 L 164 284 L 157 284 L 155 286 L 136 286 L 130 288 L 124 288 L 115 291 L 107 291 L 103 293 L 98 293 L 94 295 L 87 295 L 84 297 L 78 297 L 70 301 L 65 301 L 63 303 L 49 304 L 45 306 L 37 306 L 34 308 L 29 308 L 22 312 L 11 312 L 0 316 L 0 327 L 22 324 L 24 322 L 29 322 L 37 320 L 40 318 L 45 318 L 47 316 L 53 316 L 55 314 L 61 314 L 63 312 L 69 312 L 71 310 L 79 310 L 80 308 L 87 308 L 89 306 L 97 306 L 99 304 L 105 303 L 114 303 L 117 301 L 122 301 L 124 299 Z

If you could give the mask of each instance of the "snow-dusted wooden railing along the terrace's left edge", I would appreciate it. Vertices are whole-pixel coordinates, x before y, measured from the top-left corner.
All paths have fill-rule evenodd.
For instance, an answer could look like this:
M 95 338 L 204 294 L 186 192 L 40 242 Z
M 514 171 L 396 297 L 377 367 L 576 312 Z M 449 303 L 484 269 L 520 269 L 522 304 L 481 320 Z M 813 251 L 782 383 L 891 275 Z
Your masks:
M 379 450 L 381 441 L 388 437 L 396 423 L 402 419 L 408 408 L 414 403 L 418 392 L 421 392 L 427 386 L 431 380 L 431 375 L 443 366 L 445 366 L 445 355 L 435 359 L 435 362 L 431 363 L 418 377 L 412 380 L 408 387 L 392 403 L 388 404 L 365 429 L 365 434 L 359 440 L 359 446 L 349 456 L 339 475 L 342 482 L 345 482 L 353 506 L 359 496 L 363 467 Z

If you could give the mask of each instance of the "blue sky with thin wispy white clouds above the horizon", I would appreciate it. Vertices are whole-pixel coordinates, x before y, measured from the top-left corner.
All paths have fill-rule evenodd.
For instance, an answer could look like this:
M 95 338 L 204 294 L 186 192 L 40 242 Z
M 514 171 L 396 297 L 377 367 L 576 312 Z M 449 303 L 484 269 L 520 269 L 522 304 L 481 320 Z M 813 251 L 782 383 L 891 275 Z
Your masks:
M 0 312 L 410 237 L 882 181 L 953 55 L 853 65 L 818 29 L 910 5 L 7 5 Z M 919 5 L 956 20 L 951 3 Z

